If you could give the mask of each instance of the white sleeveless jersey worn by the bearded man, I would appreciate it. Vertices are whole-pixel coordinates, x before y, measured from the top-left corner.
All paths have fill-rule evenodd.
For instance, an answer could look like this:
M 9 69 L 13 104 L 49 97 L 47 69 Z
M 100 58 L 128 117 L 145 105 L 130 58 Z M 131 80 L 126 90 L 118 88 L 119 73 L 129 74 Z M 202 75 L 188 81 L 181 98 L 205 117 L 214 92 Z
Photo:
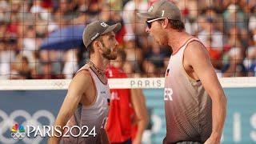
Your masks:
M 82 129 L 82 133 L 78 138 L 70 137 L 70 138 L 62 138 L 61 143 L 90 143 L 90 144 L 98 144 L 101 143 L 101 136 L 105 133 L 105 124 L 109 110 L 109 102 L 110 102 L 110 88 L 108 84 L 103 84 L 101 80 L 98 78 L 94 71 L 90 69 L 90 66 L 85 65 L 82 66 L 78 72 L 82 70 L 88 70 L 96 86 L 96 100 L 92 106 L 82 106 L 79 103 L 77 110 L 74 113 L 74 116 L 70 118 L 70 121 L 67 122 L 66 126 L 79 126 Z M 77 72 L 77 74 L 78 74 Z M 82 126 L 86 127 L 82 128 Z M 95 129 L 94 131 L 92 131 Z M 87 130 L 87 131 L 86 131 Z M 90 134 L 90 131 L 92 133 Z M 72 130 L 72 133 L 78 134 L 76 129 Z M 93 134 L 96 134 L 95 137 Z M 88 137 L 82 137 L 82 134 L 88 135 Z

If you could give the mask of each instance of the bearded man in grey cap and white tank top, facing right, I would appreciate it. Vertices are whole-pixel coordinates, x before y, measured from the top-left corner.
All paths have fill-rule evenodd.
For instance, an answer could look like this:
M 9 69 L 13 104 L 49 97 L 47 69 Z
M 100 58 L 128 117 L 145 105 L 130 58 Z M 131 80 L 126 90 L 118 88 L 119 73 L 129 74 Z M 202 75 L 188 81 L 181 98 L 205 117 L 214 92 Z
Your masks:
M 54 123 L 54 127 L 59 126 L 59 129 L 54 130 L 54 136 L 49 138 L 50 144 L 109 143 L 105 123 L 110 105 L 110 88 L 105 69 L 110 60 L 117 58 L 115 33 L 120 29 L 120 23 L 109 26 L 102 21 L 86 26 L 82 38 L 90 51 L 90 62 L 82 66 L 70 82 Z M 66 129 L 62 130 L 64 126 Z M 58 130 L 62 134 L 60 137 Z M 63 134 L 69 137 L 62 137 Z

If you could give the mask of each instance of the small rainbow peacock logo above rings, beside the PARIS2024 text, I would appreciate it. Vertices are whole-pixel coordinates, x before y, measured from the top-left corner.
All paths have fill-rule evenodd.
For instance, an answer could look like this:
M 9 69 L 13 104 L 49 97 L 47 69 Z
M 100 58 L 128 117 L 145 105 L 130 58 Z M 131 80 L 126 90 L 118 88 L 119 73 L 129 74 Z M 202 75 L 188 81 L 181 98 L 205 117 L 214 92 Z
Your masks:
M 17 123 L 11 128 L 10 135 L 14 139 L 22 139 L 25 137 L 24 126 L 18 125 Z

